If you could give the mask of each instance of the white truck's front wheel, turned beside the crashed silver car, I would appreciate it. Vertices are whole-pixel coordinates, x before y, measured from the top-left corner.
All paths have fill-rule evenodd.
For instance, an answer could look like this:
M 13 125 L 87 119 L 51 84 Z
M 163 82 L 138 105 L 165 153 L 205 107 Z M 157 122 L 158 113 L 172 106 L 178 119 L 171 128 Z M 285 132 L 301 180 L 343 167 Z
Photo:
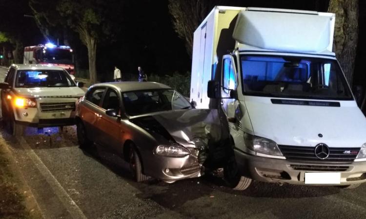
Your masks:
M 252 179 L 240 175 L 234 156 L 224 166 L 224 181 L 234 190 L 245 190 L 252 183 Z

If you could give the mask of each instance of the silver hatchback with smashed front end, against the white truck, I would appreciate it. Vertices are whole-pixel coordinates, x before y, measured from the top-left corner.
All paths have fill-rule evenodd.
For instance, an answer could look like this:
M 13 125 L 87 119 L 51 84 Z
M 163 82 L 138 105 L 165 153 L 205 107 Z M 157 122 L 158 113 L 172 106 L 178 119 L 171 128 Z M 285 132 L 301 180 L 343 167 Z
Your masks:
M 137 182 L 201 176 L 207 144 L 221 138 L 216 110 L 194 109 L 179 92 L 153 82 L 93 85 L 77 105 L 76 121 L 80 146 L 110 146 Z

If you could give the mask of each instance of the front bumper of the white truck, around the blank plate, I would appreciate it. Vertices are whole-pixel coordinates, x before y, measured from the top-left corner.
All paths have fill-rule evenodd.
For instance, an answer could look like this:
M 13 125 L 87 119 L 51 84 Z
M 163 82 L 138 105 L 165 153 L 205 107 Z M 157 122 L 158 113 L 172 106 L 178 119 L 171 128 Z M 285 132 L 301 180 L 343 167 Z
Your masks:
M 305 172 L 340 172 L 341 183 L 336 185 L 351 185 L 366 182 L 366 162 L 297 162 L 253 156 L 239 150 L 235 150 L 235 159 L 238 164 L 239 171 L 243 176 L 266 183 L 305 185 Z M 309 170 L 309 168 L 311 168 L 311 170 Z M 325 168 L 326 171 L 324 170 Z

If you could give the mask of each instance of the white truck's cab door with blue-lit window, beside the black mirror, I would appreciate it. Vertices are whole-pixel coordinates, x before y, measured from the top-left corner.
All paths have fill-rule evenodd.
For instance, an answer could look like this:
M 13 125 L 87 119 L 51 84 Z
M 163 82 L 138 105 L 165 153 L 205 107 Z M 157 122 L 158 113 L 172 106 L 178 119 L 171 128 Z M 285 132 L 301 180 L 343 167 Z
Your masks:
M 221 90 L 221 106 L 226 117 L 233 117 L 235 112 L 229 112 L 229 105 L 235 103 L 235 99 L 230 98 L 230 90 L 236 90 L 237 79 L 236 71 L 231 55 L 224 55 L 222 69 L 222 90 Z M 230 108 L 235 109 L 235 108 Z

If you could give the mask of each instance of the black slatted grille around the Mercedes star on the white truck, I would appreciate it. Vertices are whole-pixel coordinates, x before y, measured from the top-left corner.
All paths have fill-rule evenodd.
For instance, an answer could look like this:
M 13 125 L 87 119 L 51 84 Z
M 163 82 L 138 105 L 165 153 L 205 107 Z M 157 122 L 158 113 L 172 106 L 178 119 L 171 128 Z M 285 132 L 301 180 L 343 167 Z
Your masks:
M 351 163 L 360 151 L 359 147 L 329 147 L 329 156 L 322 160 L 315 156 L 315 147 L 279 145 L 279 148 L 287 160 L 312 162 Z

